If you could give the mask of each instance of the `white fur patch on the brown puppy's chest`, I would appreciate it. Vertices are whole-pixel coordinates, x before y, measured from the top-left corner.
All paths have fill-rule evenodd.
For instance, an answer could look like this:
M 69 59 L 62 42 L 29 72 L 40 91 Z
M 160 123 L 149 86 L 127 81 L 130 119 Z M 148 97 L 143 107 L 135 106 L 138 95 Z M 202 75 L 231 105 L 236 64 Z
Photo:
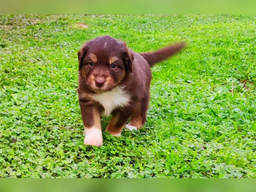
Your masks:
M 104 116 L 110 116 L 114 109 L 124 107 L 130 101 L 130 95 L 125 93 L 120 87 L 116 87 L 112 91 L 105 93 L 91 95 L 91 97 L 104 107 Z

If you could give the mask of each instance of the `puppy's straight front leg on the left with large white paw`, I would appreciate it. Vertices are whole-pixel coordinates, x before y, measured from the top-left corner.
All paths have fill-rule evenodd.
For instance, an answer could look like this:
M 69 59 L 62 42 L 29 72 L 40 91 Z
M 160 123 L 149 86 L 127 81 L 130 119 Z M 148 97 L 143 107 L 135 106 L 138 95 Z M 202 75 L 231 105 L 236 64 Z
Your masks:
M 79 105 L 84 122 L 84 145 L 103 145 L 99 108 L 87 100 L 79 100 Z

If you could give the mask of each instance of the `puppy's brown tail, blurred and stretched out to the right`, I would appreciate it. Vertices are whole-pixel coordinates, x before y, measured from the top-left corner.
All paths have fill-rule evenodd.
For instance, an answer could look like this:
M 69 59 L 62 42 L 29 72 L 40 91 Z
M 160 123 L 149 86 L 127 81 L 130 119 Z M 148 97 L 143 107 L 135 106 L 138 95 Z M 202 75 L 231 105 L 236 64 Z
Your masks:
M 155 52 L 143 52 L 140 53 L 145 60 L 148 61 L 149 66 L 153 67 L 156 63 L 168 59 L 175 53 L 179 52 L 182 48 L 186 46 L 186 43 L 177 43 L 162 49 L 156 50 Z

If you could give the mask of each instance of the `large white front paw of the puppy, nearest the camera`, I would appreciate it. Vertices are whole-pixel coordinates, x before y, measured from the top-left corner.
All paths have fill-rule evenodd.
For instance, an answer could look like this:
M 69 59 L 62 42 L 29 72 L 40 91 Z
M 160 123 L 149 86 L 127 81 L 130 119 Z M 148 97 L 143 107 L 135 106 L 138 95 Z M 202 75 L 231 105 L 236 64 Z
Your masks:
M 96 127 L 85 128 L 84 135 L 84 145 L 91 145 L 96 147 L 103 145 L 101 129 Z

